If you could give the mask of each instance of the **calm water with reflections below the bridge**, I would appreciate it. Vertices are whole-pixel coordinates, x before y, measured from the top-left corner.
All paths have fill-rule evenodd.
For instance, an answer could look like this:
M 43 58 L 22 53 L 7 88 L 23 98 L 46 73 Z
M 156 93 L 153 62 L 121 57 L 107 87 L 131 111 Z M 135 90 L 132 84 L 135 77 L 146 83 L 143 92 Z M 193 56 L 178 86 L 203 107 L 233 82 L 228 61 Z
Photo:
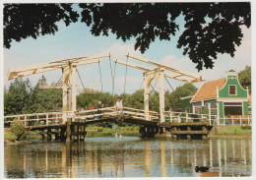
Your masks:
M 6 178 L 251 176 L 251 140 L 136 137 L 5 145 Z M 195 166 L 209 172 L 195 172 Z

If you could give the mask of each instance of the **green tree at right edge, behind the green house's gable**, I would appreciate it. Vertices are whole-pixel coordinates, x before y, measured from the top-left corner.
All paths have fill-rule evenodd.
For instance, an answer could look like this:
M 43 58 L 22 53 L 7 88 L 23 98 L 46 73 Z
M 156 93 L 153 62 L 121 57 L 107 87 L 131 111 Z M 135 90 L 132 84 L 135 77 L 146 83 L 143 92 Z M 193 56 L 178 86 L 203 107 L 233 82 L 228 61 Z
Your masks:
M 244 89 L 249 90 L 251 93 L 251 67 L 246 66 L 243 71 L 238 75 L 239 82 Z

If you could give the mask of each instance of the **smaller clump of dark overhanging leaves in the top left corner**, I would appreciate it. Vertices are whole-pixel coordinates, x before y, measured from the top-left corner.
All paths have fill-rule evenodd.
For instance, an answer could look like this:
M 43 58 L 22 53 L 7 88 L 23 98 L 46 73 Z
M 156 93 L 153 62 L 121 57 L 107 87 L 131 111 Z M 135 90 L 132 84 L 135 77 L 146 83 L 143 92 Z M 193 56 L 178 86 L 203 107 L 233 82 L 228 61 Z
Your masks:
M 59 21 L 66 26 L 78 21 L 72 4 L 4 4 L 4 47 L 10 48 L 12 40 L 42 34 L 54 34 Z

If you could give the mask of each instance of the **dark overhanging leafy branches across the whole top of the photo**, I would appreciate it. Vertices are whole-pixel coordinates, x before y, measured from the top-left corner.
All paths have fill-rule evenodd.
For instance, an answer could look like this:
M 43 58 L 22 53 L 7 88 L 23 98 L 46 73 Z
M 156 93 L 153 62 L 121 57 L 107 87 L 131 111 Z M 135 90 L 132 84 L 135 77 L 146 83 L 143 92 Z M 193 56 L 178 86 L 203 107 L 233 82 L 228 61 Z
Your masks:
M 241 26 L 251 26 L 249 2 L 238 3 L 87 3 L 82 8 L 81 22 L 94 35 L 110 32 L 123 41 L 136 38 L 135 49 L 144 53 L 156 38 L 170 40 L 180 32 L 177 18 L 184 18 L 177 48 L 183 48 L 196 68 L 214 67 L 219 53 L 234 56 L 235 46 L 241 44 Z M 71 4 L 5 4 L 4 46 L 10 48 L 12 39 L 52 33 L 56 22 L 68 26 L 78 21 Z M 182 27 L 181 27 L 182 28 Z

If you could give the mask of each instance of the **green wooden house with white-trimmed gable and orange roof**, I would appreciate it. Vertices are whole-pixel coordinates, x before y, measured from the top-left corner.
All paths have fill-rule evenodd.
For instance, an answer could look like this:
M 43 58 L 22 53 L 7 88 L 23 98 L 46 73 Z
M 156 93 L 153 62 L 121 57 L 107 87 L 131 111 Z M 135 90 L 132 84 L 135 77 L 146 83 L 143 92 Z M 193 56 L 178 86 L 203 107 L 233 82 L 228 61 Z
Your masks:
M 238 72 L 205 83 L 193 96 L 181 98 L 181 111 L 217 115 L 219 118 L 249 115 L 250 96 L 238 81 Z

